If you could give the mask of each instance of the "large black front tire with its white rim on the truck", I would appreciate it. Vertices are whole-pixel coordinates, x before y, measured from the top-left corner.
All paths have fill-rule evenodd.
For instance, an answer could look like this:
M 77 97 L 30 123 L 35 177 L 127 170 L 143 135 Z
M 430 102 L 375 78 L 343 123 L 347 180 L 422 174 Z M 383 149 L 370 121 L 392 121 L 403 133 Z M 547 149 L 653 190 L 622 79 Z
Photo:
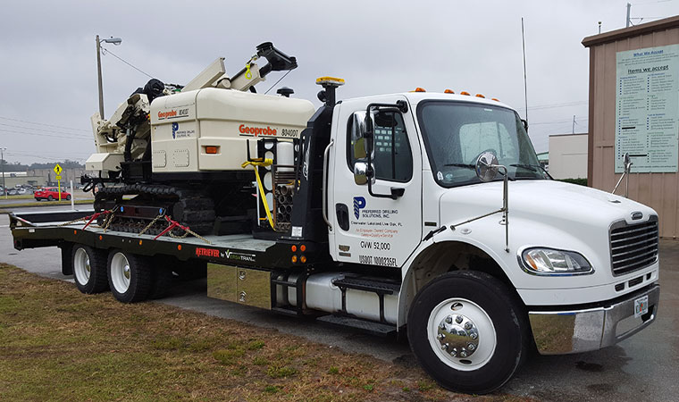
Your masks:
M 474 394 L 509 381 L 529 336 L 517 297 L 501 281 L 473 271 L 448 272 L 424 286 L 408 313 L 407 334 L 424 371 L 441 387 Z

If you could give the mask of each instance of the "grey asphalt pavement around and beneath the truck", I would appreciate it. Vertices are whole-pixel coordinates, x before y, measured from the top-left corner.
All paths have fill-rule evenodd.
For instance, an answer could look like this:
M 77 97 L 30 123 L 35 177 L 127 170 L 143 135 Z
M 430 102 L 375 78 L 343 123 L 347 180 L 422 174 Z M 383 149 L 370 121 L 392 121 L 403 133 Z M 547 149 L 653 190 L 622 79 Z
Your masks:
M 80 207 L 86 209 L 88 205 Z M 63 206 L 43 207 L 41 211 L 63 209 Z M 0 262 L 49 278 L 73 281 L 72 276 L 63 276 L 59 264 L 54 263 L 60 258 L 58 248 L 15 250 L 8 223 L 6 215 L 0 216 Z M 660 266 L 658 318 L 649 328 L 616 346 L 595 352 L 531 356 L 499 392 L 547 401 L 679 400 L 679 240 L 661 239 Z M 75 286 L 73 292 L 78 292 Z M 416 364 L 405 340 L 380 338 L 211 299 L 205 296 L 205 280 L 178 282 L 169 297 L 156 302 L 275 329 L 329 348 Z

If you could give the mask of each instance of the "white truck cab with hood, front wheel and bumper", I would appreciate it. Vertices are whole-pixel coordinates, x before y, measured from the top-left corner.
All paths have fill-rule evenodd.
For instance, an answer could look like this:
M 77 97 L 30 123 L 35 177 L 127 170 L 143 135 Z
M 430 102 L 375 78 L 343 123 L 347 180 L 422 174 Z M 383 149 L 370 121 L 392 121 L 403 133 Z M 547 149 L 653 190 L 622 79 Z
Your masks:
M 334 106 L 329 252 L 359 271 L 398 272 L 397 326 L 449 388 L 490 389 L 527 344 L 542 354 L 613 345 L 657 313 L 656 212 L 551 180 L 526 126 L 482 96 L 412 92 Z M 503 169 L 484 181 L 487 153 Z

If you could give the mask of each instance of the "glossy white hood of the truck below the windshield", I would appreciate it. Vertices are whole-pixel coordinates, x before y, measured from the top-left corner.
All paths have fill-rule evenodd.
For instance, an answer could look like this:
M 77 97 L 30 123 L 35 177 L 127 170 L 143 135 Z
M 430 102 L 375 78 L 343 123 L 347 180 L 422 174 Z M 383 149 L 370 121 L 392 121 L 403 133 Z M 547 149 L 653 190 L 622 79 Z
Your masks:
M 443 224 L 456 224 L 502 206 L 501 181 L 451 188 L 440 197 L 440 218 Z M 655 211 L 625 197 L 598 189 L 556 180 L 516 180 L 509 182 L 509 222 L 513 219 L 539 221 L 566 227 L 602 227 L 625 220 L 642 222 Z M 641 212 L 641 219 L 632 214 Z M 580 225 L 577 225 L 580 223 Z

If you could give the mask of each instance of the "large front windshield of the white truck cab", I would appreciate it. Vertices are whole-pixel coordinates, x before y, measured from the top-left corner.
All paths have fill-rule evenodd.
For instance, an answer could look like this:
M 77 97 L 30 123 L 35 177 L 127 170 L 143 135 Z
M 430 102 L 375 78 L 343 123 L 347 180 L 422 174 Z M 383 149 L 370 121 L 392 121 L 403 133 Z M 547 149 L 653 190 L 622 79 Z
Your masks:
M 429 101 L 417 117 L 436 181 L 443 187 L 481 182 L 476 158 L 485 151 L 507 166 L 512 180 L 547 179 L 524 124 L 512 110 L 491 105 Z M 501 180 L 498 175 L 497 180 Z

